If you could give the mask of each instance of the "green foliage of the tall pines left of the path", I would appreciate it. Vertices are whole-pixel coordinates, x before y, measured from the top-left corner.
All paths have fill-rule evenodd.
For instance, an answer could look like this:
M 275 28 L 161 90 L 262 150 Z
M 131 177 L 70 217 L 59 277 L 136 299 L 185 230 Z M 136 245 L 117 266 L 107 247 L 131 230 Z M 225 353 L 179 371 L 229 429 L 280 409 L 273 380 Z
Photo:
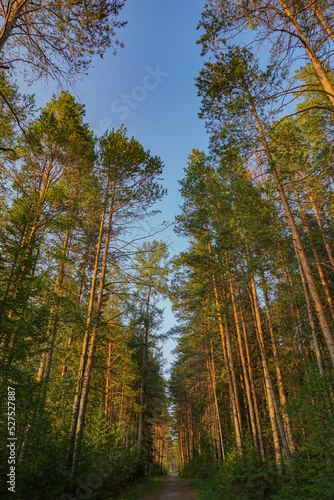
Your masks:
M 6 90 L 19 102 L 16 89 Z M 21 112 L 18 104 L 17 109 Z M 168 292 L 168 252 L 163 242 L 141 248 L 136 243 L 143 236 L 138 232 L 145 233 L 141 221 L 164 194 L 158 177 L 163 165 L 134 138 L 128 139 L 124 128 L 106 134 L 97 152 L 84 115 L 84 106 L 62 92 L 15 142 L 10 136 L 12 117 L 5 113 L 3 118 L 3 145 L 15 145 L 16 155 L 4 155 L 9 190 L 0 221 L 1 403 L 6 405 L 7 386 L 16 387 L 16 496 L 22 499 L 57 498 L 65 487 L 75 491 L 80 487 L 77 480 L 85 481 L 90 474 L 92 484 L 85 486 L 91 498 L 104 491 L 114 495 L 131 482 L 164 471 L 158 440 L 168 440 L 169 416 L 155 335 L 162 317 L 157 301 Z M 74 477 L 66 463 L 68 436 L 101 220 L 102 226 L 109 221 L 112 243 L 98 313 L 96 293 L 93 301 L 92 324 L 99 343 Z M 101 250 L 98 260 L 102 255 Z M 145 453 L 139 460 L 136 435 L 143 378 Z M 1 432 L 6 457 L 5 426 Z M 101 472 L 105 460 L 108 474 Z M 7 472 L 4 463 L 3 490 Z M 100 475 L 96 484 L 94 474 Z

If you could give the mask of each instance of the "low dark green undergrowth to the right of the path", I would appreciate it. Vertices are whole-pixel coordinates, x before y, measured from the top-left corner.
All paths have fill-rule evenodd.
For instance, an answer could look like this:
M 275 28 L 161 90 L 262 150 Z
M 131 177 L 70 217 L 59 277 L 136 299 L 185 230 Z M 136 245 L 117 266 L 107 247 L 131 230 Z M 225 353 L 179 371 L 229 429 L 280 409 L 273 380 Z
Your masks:
M 180 469 L 191 479 L 200 500 L 333 500 L 333 461 L 297 452 L 291 468 L 280 476 L 275 465 L 254 451 L 241 458 L 230 453 L 225 462 L 194 457 Z

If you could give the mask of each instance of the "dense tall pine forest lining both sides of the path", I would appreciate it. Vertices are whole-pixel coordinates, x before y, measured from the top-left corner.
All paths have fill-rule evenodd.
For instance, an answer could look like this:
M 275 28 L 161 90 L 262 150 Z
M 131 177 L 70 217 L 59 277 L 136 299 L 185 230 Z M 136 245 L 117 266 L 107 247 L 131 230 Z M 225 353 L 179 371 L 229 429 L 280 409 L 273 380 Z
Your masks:
M 330 500 L 334 5 L 206 3 L 210 147 L 170 256 L 162 160 L 95 137 L 68 90 L 122 45 L 123 3 L 0 6 L 2 498 L 117 498 L 178 467 L 203 499 Z M 67 90 L 36 110 L 18 75 Z

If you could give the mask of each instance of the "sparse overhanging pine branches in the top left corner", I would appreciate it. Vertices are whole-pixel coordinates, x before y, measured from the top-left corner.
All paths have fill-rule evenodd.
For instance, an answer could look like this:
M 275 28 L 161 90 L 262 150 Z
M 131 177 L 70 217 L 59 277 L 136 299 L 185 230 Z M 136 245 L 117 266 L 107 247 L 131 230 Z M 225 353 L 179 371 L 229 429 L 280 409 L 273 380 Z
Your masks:
M 51 77 L 73 83 L 94 54 L 118 45 L 118 15 L 124 1 L 59 2 L 9 0 L 0 15 L 0 67 L 26 79 Z

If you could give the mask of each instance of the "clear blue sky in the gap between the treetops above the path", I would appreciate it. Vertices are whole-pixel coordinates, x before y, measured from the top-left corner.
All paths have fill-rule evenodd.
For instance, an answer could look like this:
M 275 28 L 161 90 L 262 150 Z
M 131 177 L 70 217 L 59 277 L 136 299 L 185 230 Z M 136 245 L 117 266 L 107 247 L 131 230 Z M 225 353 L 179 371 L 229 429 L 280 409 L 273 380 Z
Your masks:
M 124 123 L 129 136 L 163 160 L 168 195 L 159 203 L 162 214 L 157 222 L 173 221 L 179 212 L 177 181 L 183 177 L 187 157 L 192 148 L 208 145 L 204 123 L 197 117 L 200 100 L 194 82 L 202 66 L 196 26 L 204 3 L 126 0 L 120 19 L 128 23 L 118 31 L 125 48 L 116 56 L 109 51 L 103 59 L 94 58 L 88 76 L 76 83 L 76 98 L 85 104 L 87 122 L 97 135 Z M 38 106 L 43 106 L 56 87 L 36 83 L 27 91 L 35 92 Z M 172 241 L 171 254 L 186 246 L 172 229 L 159 238 Z M 166 305 L 164 330 L 173 324 Z M 169 360 L 174 346 L 165 345 Z

